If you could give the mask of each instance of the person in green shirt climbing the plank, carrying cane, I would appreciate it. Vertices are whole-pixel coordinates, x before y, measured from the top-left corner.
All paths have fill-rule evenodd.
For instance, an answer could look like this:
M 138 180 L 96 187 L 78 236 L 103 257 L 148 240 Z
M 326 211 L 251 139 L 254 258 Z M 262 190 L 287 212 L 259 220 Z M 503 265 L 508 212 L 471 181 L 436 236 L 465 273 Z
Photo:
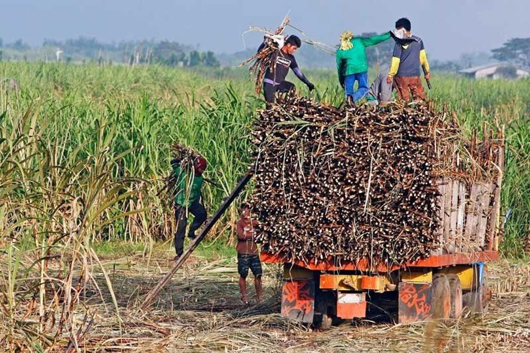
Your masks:
M 201 187 L 204 178 L 202 173 L 206 169 L 206 159 L 198 157 L 193 163 L 194 175 L 188 175 L 181 169 L 180 160 L 173 159 L 171 161 L 173 173 L 175 173 L 176 180 L 176 195 L 175 195 L 175 261 L 184 252 L 184 233 L 188 223 L 187 212 L 193 215 L 193 223 L 191 223 L 188 237 L 195 238 L 195 231 L 206 220 L 206 209 L 200 203 Z

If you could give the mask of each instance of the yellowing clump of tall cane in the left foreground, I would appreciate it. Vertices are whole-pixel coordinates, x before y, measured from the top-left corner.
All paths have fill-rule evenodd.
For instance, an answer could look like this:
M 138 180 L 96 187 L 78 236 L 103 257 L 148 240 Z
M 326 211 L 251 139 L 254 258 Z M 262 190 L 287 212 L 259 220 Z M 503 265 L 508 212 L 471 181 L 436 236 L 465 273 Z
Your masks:
M 64 332 L 86 328 L 74 310 L 81 289 L 95 283 L 94 266 L 119 318 L 90 240 L 109 224 L 147 211 L 114 212 L 137 195 L 131 188 L 137 180 L 113 175 L 130 150 L 109 149 L 108 126 L 93 131 L 92 152 L 81 156 L 77 146 L 64 154 L 62 141 L 49 140 L 52 123 L 39 116 L 42 109 L 42 102 L 30 102 L 24 114 L 6 110 L 0 121 L 0 345 L 6 351 L 52 351 L 65 345 Z

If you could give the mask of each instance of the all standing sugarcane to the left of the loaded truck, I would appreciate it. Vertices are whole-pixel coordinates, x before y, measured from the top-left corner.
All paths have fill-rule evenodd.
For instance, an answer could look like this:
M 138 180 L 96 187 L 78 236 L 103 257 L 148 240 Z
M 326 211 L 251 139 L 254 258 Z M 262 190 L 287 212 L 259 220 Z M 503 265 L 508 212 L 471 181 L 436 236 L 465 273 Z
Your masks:
M 95 269 L 113 296 L 94 241 L 172 236 L 172 210 L 156 197 L 171 143 L 208 158 L 220 185 L 205 189 L 212 210 L 246 171 L 255 101 L 160 67 L 2 63 L 0 78 L 0 345 L 53 351 L 90 329 L 90 308 L 75 314 Z

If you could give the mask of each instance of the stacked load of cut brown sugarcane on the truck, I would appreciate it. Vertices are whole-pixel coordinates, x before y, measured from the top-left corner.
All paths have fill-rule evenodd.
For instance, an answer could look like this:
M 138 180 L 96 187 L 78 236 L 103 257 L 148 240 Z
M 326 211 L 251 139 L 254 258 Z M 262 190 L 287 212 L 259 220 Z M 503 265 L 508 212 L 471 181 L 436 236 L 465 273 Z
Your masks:
M 302 261 L 401 264 L 437 246 L 436 178 L 457 128 L 427 105 L 338 110 L 289 97 L 252 131 L 263 250 Z

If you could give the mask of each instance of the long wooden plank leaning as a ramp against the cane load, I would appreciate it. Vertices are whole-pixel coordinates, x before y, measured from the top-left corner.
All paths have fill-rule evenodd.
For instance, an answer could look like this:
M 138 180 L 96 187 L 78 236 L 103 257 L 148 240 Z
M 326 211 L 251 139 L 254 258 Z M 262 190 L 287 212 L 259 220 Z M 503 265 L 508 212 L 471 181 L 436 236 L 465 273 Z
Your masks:
M 252 178 L 252 173 L 250 171 L 243 178 L 241 178 L 241 180 L 237 183 L 237 186 L 234 188 L 232 193 L 228 195 L 227 198 L 225 198 L 225 201 L 223 202 L 223 204 L 221 204 L 217 212 L 215 212 L 215 214 L 209 220 L 207 220 L 206 226 L 204 227 L 204 229 L 202 229 L 200 234 L 191 241 L 191 244 L 188 247 L 188 249 L 184 251 L 184 253 L 179 257 L 179 259 L 176 260 L 175 264 L 169 270 L 169 272 L 167 272 L 165 276 L 162 277 L 158 281 L 158 284 L 151 290 L 151 292 L 147 294 L 147 296 L 144 299 L 144 302 L 142 303 L 142 305 L 140 305 L 142 309 L 146 309 L 149 306 L 149 304 L 151 304 L 151 302 L 158 295 L 158 293 L 162 290 L 162 288 L 167 284 L 167 282 L 169 282 L 171 277 L 173 277 L 176 271 L 182 266 L 182 264 L 184 264 L 184 261 L 191 255 L 193 250 L 197 248 L 197 246 L 202 241 L 202 239 L 206 237 L 206 234 L 208 234 L 208 232 L 214 226 L 214 224 L 225 213 L 225 211 L 228 209 L 228 206 L 230 206 L 232 202 L 235 200 L 235 198 L 243 191 L 243 189 L 245 188 L 245 185 L 250 181 L 251 178 Z

